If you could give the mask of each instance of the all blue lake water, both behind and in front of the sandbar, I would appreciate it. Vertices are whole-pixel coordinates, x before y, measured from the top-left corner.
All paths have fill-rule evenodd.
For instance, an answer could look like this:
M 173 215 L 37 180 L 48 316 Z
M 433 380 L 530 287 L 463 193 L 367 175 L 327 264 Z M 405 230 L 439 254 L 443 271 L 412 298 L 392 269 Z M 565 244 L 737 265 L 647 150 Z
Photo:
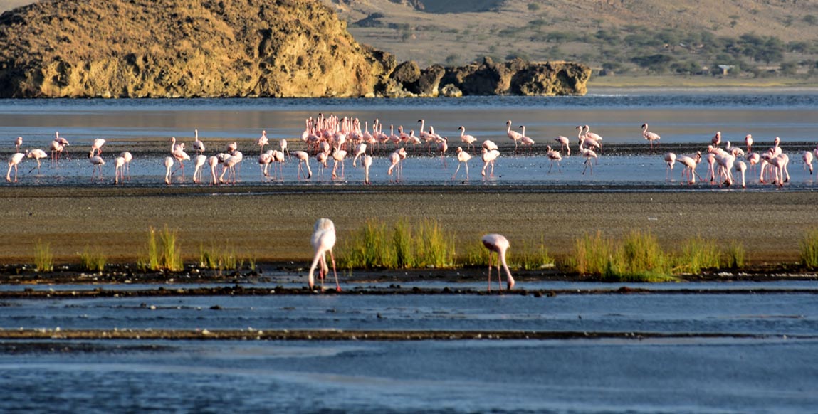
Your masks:
M 264 183 L 254 141 L 295 138 L 318 113 L 408 129 L 433 125 L 457 141 L 457 127 L 501 144 L 496 175 L 483 179 L 479 160 L 470 178 L 451 180 L 456 160 L 414 154 L 402 184 L 385 175 L 382 156 L 373 185 L 584 185 L 591 191 L 652 188 L 679 191 L 678 168 L 665 180 L 661 154 L 645 150 L 640 125 L 663 146 L 704 150 L 715 131 L 744 146 L 753 134 L 766 149 L 780 136 L 790 155 L 792 182 L 811 189 L 799 151 L 816 144 L 818 92 L 683 91 L 592 93 L 583 97 L 470 97 L 417 100 L 0 100 L 0 154 L 13 140 L 47 149 L 55 131 L 71 142 L 59 167 L 20 167 L 16 185 L 89 185 L 85 160 L 95 138 L 108 140 L 106 180 L 113 158 L 133 150 L 127 185 L 164 185 L 161 160 L 169 137 L 191 142 L 194 129 L 209 154 L 236 140 L 246 160 L 245 185 Z M 506 121 L 525 125 L 537 149 L 515 154 Z M 612 145 L 594 174 L 582 175 L 572 156 L 562 172 L 547 173 L 542 146 L 573 138 L 589 124 Z M 452 148 L 456 147 L 456 143 Z M 295 163 L 285 165 L 297 183 Z M 330 163 L 331 167 L 331 163 Z M 313 176 L 308 185 L 361 185 L 351 167 L 342 180 Z M 315 163 L 313 162 L 313 168 Z M 556 167 L 555 167 L 556 168 Z M 705 166 L 699 174 L 705 175 Z M 174 185 L 193 185 L 192 169 Z M 769 186 L 749 180 L 748 189 Z M 7 184 L 3 184 L 7 186 Z M 695 189 L 717 187 L 698 185 Z M 2 189 L 0 189 L 2 192 Z M 288 283 L 282 275 L 277 283 Z M 303 284 L 303 281 L 298 283 Z M 438 282 L 405 288 L 441 287 Z M 367 285 L 368 286 L 368 285 Z M 609 285 L 545 283 L 532 289 Z M 813 282 L 685 284 L 739 290 L 794 289 L 780 294 L 664 294 L 533 296 L 261 296 L 45 299 L 0 301 L 0 328 L 25 329 L 362 329 L 527 330 L 613 332 L 622 338 L 552 341 L 0 341 L 0 412 L 813 412 L 818 406 L 818 300 Z M 274 287 L 274 286 L 270 286 Z M 464 287 L 482 288 L 483 283 Z M 656 291 L 678 284 L 651 287 Z M 2 287 L 16 290 L 24 287 Z M 36 289 L 87 289 L 49 286 Z M 109 288 L 109 287 L 106 287 Z M 120 287 L 110 287 L 120 288 Z M 124 287 L 123 287 L 124 288 Z M 800 292 L 799 292 L 800 290 Z M 148 305 L 143 306 L 143 305 Z M 218 305 L 221 310 L 210 309 Z M 151 310 L 151 306 L 155 309 Z M 645 338 L 628 332 L 691 333 Z

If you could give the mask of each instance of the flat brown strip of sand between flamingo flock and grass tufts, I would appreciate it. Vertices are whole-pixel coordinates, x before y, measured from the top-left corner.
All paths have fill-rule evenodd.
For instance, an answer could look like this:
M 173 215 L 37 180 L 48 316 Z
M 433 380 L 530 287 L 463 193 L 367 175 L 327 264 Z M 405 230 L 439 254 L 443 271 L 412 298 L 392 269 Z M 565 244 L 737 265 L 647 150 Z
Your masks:
M 575 191 L 576 190 L 576 191 Z M 579 192 L 582 191 L 582 192 Z M 505 234 L 510 254 L 542 240 L 552 255 L 568 255 L 574 238 L 600 230 L 618 238 L 649 231 L 672 249 L 700 235 L 744 243 L 751 263 L 797 260 L 798 243 L 816 220 L 818 194 L 796 191 L 719 192 L 650 189 L 570 189 L 514 186 L 230 186 L 219 188 L 2 189 L 0 263 L 30 264 L 38 241 L 56 265 L 79 261 L 86 248 L 109 263 L 146 256 L 147 231 L 178 229 L 186 261 L 200 246 L 234 249 L 263 262 L 303 262 L 312 256 L 312 224 L 335 221 L 339 243 L 367 218 L 431 217 L 456 235 L 465 251 L 488 232 Z

